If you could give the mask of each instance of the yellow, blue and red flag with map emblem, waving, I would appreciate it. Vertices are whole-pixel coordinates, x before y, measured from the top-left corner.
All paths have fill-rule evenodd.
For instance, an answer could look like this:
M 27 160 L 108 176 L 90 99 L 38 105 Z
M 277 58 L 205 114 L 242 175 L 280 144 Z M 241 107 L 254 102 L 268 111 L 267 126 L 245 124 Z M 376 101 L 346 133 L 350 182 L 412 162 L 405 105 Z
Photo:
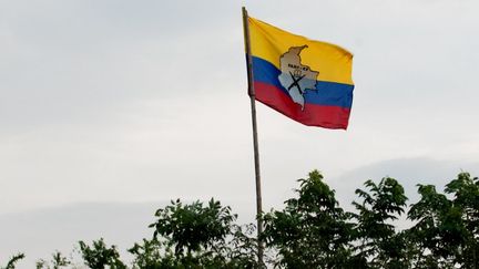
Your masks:
M 348 126 L 353 54 L 248 18 L 255 99 L 309 126 Z

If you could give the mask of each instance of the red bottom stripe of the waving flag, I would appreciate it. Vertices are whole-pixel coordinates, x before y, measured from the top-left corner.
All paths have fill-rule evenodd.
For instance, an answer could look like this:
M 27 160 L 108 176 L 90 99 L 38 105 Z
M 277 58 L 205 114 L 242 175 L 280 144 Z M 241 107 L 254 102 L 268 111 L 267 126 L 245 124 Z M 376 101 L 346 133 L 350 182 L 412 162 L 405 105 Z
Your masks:
M 350 108 L 330 105 L 305 104 L 293 102 L 281 89 L 263 82 L 254 82 L 256 100 L 285 116 L 308 126 L 325 128 L 347 128 Z

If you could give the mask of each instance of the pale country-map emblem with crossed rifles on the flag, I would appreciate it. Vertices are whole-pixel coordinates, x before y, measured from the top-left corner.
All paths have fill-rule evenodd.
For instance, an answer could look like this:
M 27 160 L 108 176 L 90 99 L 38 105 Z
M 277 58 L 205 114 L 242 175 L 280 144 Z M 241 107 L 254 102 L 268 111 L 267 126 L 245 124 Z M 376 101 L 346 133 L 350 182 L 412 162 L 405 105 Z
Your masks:
M 282 73 L 278 76 L 279 83 L 288 91 L 293 102 L 304 110 L 304 94 L 306 90 L 316 91 L 316 80 L 319 74 L 309 66 L 302 64 L 299 53 L 307 48 L 292 46 L 279 58 Z

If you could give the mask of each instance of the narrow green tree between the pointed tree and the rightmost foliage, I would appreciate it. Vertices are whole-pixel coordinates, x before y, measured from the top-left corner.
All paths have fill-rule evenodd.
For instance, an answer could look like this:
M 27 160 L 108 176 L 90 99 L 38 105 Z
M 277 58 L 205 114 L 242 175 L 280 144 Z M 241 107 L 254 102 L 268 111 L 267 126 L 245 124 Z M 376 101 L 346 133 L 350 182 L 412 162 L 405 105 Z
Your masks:
M 356 189 L 363 201 L 353 203 L 358 210 L 354 215 L 356 260 L 369 268 L 408 268 L 407 238 L 390 224 L 405 211 L 402 186 L 390 177 L 379 184 L 367 180 L 365 186 L 367 190 Z

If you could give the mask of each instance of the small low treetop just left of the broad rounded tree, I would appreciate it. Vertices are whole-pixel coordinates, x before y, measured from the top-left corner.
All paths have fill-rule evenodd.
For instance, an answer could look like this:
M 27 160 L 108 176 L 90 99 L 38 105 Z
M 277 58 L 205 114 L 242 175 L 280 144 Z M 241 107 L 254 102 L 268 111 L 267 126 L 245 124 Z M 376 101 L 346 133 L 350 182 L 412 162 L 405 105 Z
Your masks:
M 120 255 L 115 246 L 106 247 L 103 238 L 93 241 L 90 247 L 83 241 L 79 241 L 80 252 L 84 263 L 92 269 L 125 269 L 126 266 L 120 260 Z

